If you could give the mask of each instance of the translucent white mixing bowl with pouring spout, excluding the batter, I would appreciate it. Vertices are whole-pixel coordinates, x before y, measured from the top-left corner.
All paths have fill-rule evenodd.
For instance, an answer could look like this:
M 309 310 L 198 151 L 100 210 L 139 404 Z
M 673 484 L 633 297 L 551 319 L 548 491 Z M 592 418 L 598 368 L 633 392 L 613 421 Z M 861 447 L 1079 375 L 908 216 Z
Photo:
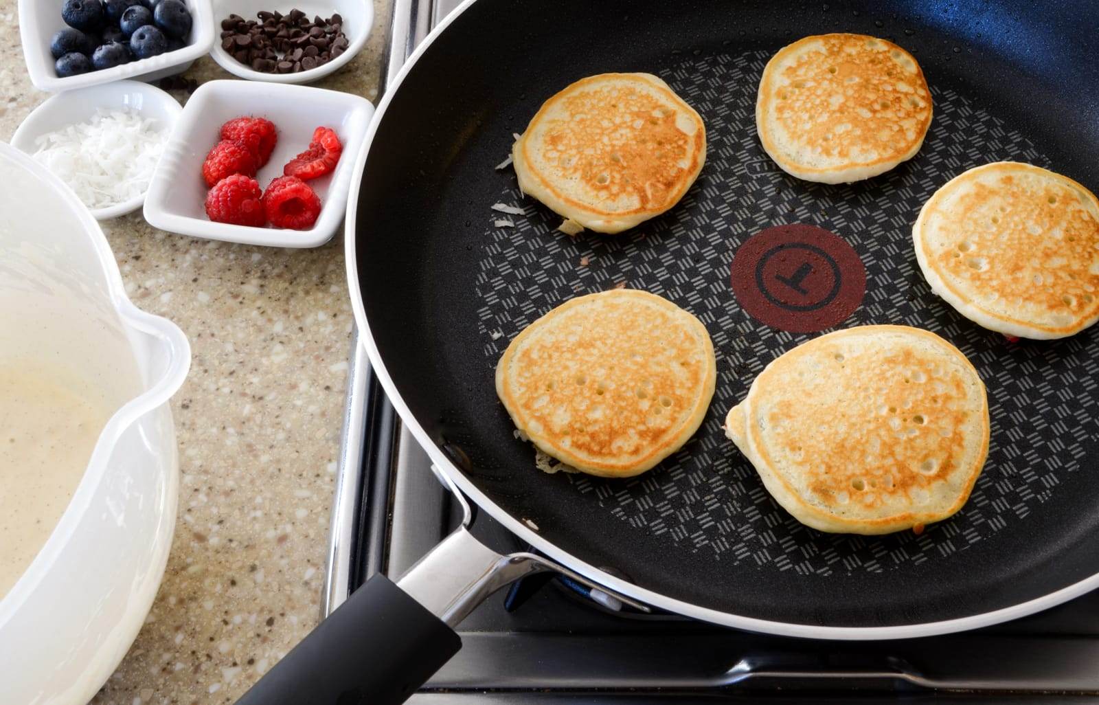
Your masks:
M 178 456 L 168 398 L 187 338 L 137 309 L 99 225 L 0 143 L 0 359 L 52 357 L 116 410 L 45 546 L 0 598 L 4 703 L 87 703 L 130 648 L 164 574 Z

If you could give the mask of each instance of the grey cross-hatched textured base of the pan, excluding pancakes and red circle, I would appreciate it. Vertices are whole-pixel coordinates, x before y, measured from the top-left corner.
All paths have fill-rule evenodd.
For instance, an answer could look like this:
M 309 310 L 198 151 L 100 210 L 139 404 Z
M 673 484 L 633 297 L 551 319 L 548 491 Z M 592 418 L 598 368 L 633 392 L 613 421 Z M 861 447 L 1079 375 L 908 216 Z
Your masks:
M 968 168 L 1014 159 L 1051 168 L 1023 134 L 984 102 L 933 87 L 935 120 L 920 153 L 879 178 L 844 186 L 787 176 L 751 129 L 756 86 L 770 51 L 670 57 L 660 75 L 709 126 L 708 158 L 675 209 L 621 238 L 556 232 L 560 219 L 523 199 L 499 172 L 499 200 L 522 207 L 514 227 L 493 227 L 485 203 L 485 245 L 475 286 L 481 301 L 485 384 L 514 335 L 574 296 L 629 285 L 689 309 L 709 329 L 718 359 L 710 412 L 693 439 L 653 471 L 630 480 L 546 475 L 575 485 L 636 530 L 713 561 L 800 574 L 874 573 L 920 564 L 1025 530 L 1028 517 L 1099 453 L 1099 340 L 1011 344 L 966 320 L 928 286 L 912 254 L 912 223 L 935 189 Z M 502 158 L 510 143 L 501 139 Z M 730 448 L 724 412 L 777 354 L 812 335 L 756 322 L 730 290 L 736 249 L 765 228 L 810 223 L 847 240 L 866 265 L 866 297 L 845 327 L 924 328 L 957 346 L 988 389 L 988 460 L 969 502 L 917 536 L 831 535 L 795 520 L 755 470 Z M 1066 390 L 1068 390 L 1066 393 Z M 506 417 L 502 407 L 498 414 Z M 515 441 L 521 443 L 521 441 Z M 530 444 L 523 449 L 534 466 Z M 536 519 L 536 517 L 534 517 Z

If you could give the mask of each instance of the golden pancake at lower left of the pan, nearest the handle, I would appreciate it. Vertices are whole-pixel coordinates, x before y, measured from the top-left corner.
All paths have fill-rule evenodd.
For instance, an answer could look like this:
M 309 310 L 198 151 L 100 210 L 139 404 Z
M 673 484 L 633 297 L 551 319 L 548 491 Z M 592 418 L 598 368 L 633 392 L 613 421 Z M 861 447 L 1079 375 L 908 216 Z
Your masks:
M 654 294 L 612 289 L 528 326 L 497 365 L 496 390 L 542 452 L 591 475 L 629 477 L 698 430 L 715 378 L 697 318 Z

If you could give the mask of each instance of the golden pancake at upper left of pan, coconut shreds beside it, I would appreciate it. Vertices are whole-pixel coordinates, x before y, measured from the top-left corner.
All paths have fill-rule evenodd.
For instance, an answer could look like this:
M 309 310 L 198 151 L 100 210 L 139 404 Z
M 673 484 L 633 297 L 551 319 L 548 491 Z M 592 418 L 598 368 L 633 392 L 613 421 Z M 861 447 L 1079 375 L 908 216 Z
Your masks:
M 566 221 L 617 233 L 668 210 L 706 161 L 706 125 L 652 74 L 576 81 L 534 115 L 512 147 L 519 187 Z

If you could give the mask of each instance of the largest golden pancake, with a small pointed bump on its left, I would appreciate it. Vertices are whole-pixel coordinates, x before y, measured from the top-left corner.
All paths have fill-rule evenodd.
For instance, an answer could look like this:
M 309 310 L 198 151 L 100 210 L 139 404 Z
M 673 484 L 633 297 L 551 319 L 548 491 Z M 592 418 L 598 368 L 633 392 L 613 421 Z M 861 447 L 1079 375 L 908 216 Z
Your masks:
M 798 521 L 889 533 L 950 517 L 988 453 L 977 371 L 934 333 L 863 326 L 774 360 L 725 433 Z

